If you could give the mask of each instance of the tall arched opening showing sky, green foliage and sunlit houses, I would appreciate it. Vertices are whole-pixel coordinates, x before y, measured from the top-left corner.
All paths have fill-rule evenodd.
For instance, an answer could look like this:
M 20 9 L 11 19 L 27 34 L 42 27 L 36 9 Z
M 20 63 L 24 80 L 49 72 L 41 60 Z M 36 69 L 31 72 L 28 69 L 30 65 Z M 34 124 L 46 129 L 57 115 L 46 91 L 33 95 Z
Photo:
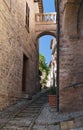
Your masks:
M 41 89 L 56 86 L 57 45 L 51 35 L 39 38 L 39 77 Z

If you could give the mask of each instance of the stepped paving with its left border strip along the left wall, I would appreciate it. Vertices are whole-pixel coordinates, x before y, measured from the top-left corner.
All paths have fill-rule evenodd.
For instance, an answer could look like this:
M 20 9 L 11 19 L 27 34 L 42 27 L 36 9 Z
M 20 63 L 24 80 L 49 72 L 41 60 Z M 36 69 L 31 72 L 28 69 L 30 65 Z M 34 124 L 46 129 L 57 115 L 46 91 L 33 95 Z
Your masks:
M 43 96 L 42 96 L 43 94 Z M 0 113 L 0 130 L 29 130 L 48 101 L 48 92 L 41 92 L 34 100 L 23 100 Z

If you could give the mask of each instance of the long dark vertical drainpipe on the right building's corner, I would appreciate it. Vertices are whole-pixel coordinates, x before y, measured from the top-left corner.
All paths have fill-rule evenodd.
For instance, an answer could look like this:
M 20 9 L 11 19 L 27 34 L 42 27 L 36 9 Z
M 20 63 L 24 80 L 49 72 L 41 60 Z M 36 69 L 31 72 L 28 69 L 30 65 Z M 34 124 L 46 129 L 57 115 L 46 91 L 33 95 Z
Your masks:
M 56 0 L 57 10 L 57 112 L 59 112 L 59 46 L 60 46 L 60 12 L 59 0 Z

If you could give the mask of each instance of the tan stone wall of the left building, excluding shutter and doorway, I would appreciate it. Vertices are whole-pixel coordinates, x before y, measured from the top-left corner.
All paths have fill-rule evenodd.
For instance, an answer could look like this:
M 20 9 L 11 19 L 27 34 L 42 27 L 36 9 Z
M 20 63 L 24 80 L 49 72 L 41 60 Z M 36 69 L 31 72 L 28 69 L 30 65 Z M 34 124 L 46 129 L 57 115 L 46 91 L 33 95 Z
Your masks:
M 33 0 L 27 0 L 27 3 L 30 8 L 29 32 L 25 27 L 26 1 L 0 0 L 0 110 L 21 97 L 24 55 L 28 59 L 25 93 L 32 95 L 39 90 L 34 21 L 38 5 Z

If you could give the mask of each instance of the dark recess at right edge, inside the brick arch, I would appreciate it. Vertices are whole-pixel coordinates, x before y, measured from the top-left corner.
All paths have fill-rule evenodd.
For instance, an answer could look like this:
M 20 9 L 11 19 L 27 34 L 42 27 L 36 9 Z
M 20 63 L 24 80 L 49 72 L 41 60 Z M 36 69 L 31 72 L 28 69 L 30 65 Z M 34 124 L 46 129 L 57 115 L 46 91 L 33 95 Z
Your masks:
M 83 1 L 80 5 L 79 16 L 78 16 L 78 32 L 79 32 L 79 36 L 83 37 Z

